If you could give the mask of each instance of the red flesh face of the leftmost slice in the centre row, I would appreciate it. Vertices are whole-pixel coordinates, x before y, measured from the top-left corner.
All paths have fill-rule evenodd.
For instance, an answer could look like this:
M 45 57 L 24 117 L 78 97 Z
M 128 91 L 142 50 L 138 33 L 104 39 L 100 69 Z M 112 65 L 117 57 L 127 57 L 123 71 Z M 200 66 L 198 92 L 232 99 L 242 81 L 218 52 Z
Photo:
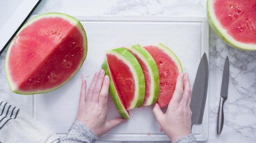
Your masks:
M 123 102 L 129 110 L 135 93 L 135 81 L 129 67 L 122 60 L 112 54 L 106 54 L 108 65 L 112 73 L 112 79 L 120 92 Z

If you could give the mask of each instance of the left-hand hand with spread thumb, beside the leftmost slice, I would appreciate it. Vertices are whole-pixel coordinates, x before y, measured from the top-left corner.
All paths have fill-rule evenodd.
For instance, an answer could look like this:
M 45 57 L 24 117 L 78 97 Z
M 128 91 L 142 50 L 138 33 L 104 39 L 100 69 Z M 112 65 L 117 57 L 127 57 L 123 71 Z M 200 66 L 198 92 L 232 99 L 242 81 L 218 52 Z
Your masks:
M 107 118 L 109 83 L 109 77 L 105 76 L 105 71 L 101 69 L 94 75 L 87 95 L 86 81 L 83 80 L 81 85 L 76 119 L 90 128 L 98 137 L 126 121 L 121 117 L 113 120 Z

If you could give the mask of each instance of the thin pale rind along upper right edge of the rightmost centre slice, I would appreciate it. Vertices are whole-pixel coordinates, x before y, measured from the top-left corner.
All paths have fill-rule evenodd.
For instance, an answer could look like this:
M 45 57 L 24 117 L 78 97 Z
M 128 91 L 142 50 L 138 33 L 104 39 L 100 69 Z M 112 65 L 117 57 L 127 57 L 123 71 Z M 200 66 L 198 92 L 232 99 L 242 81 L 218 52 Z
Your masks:
M 171 51 L 168 47 L 166 47 L 165 45 L 159 43 L 157 45 L 154 45 L 156 47 L 158 47 L 159 49 L 161 49 L 162 51 L 164 51 L 164 53 L 166 53 L 168 56 L 170 56 L 170 58 L 174 61 L 174 63 L 176 64 L 178 70 L 179 70 L 179 73 L 182 73 L 183 72 L 183 69 L 182 69 L 182 65 L 180 63 L 180 60 L 179 58 L 176 56 L 176 54 L 174 54 L 173 51 Z

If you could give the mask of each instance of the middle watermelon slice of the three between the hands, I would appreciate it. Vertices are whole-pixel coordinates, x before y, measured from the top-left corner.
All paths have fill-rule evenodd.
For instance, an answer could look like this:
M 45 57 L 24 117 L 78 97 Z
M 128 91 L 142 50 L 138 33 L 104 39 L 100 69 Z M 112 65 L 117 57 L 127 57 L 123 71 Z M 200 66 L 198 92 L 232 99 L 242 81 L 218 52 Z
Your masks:
M 143 106 L 157 102 L 159 96 L 159 73 L 154 58 L 141 45 L 126 47 L 139 61 L 145 77 L 146 93 Z

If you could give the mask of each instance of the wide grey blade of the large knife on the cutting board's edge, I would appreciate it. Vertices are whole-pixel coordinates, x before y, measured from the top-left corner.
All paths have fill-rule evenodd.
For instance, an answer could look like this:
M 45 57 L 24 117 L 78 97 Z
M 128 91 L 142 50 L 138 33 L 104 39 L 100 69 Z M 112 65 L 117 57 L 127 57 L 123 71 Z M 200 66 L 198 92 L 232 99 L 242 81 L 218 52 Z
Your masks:
M 190 108 L 192 111 L 192 124 L 202 124 L 204 106 L 207 98 L 209 78 L 209 65 L 207 56 L 204 53 L 198 66 L 195 82 L 191 93 Z

